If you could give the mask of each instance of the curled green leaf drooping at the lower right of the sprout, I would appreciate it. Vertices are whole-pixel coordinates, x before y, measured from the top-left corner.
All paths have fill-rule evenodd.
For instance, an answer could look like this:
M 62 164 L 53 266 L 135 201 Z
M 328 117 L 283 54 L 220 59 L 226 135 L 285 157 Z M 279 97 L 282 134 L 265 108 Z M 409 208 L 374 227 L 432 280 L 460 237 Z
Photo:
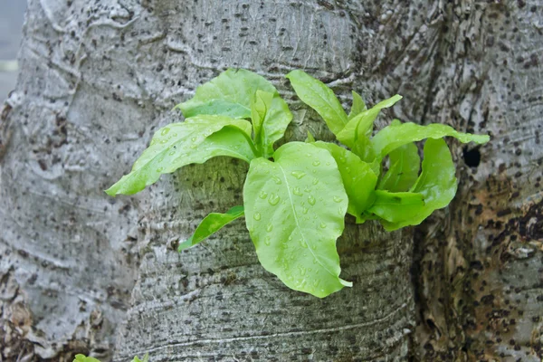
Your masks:
M 451 151 L 442 138 L 426 140 L 424 144 L 423 171 L 410 192 L 424 197 L 424 205 L 414 206 L 403 220 L 382 221 L 387 231 L 407 225 L 421 224 L 434 210 L 451 202 L 456 194 L 456 176 Z

